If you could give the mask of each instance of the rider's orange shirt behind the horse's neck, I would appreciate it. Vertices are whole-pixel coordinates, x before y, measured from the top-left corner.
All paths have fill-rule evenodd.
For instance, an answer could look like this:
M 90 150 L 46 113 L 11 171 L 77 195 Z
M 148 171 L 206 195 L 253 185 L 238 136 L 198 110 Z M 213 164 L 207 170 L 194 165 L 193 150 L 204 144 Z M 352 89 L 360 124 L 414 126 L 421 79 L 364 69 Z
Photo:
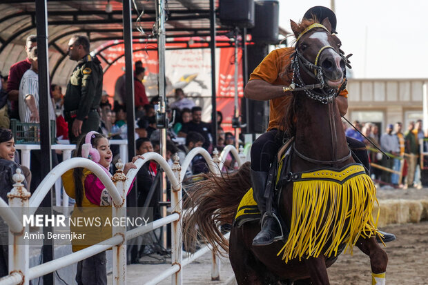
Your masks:
M 290 55 L 293 52 L 294 48 L 279 48 L 271 51 L 251 73 L 250 80 L 260 79 L 273 85 L 289 86 L 293 71 L 286 70 L 286 67 L 291 64 Z M 342 90 L 339 95 L 347 98 L 348 91 Z M 291 96 L 279 97 L 269 101 L 269 126 L 267 130 L 284 129 L 283 118 L 290 101 Z

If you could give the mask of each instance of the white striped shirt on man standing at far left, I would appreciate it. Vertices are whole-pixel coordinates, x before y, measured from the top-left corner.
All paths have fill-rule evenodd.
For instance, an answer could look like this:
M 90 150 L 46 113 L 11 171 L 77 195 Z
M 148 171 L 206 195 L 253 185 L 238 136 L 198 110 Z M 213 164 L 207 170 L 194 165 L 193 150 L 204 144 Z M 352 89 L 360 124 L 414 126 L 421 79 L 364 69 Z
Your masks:
M 39 77 L 36 72 L 29 69 L 27 70 L 21 79 L 21 83 L 19 83 L 19 97 L 18 97 L 18 107 L 19 107 L 19 119 L 24 123 L 30 123 L 30 115 L 31 111 L 26 104 L 26 96 L 32 95 L 35 97 L 36 108 L 40 112 L 39 108 Z M 54 120 L 55 111 L 52 105 L 52 99 L 48 100 L 49 104 L 49 119 Z

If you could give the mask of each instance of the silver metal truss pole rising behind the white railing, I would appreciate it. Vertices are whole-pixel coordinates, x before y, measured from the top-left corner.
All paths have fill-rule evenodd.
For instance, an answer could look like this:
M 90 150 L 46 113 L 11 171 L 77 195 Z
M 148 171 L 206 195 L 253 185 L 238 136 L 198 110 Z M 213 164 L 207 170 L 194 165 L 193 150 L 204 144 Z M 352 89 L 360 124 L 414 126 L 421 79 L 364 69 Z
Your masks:
M 160 155 L 166 160 L 166 96 L 165 96 L 165 0 L 157 0 L 157 54 L 159 62 L 159 110 L 157 110 L 157 121 L 161 121 L 160 126 Z M 159 125 L 159 124 L 157 124 Z M 166 175 L 162 172 L 162 217 L 166 217 Z M 162 246 L 167 248 L 167 228 L 162 227 Z

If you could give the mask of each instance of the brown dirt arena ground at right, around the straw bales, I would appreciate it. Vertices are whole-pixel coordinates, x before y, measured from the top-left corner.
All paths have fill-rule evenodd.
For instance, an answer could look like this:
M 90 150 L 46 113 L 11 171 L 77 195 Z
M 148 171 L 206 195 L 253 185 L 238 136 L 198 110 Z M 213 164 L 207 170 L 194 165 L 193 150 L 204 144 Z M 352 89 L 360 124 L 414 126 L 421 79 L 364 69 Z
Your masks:
M 427 199 L 427 188 L 378 191 L 379 199 Z M 428 222 L 382 227 L 397 240 L 385 248 L 388 257 L 387 284 L 428 285 Z M 342 254 L 329 268 L 331 284 L 371 284 L 370 260 L 358 248 L 353 255 Z

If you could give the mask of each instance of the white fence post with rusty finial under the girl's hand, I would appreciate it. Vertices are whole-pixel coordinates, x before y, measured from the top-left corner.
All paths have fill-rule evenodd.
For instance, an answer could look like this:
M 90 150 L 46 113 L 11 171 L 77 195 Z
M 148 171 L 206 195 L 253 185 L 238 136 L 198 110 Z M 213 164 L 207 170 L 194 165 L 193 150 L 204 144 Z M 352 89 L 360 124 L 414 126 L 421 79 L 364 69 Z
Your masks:
M 115 183 L 119 195 L 122 197 L 122 204 L 116 205 L 112 200 L 112 218 L 121 221 L 121 218 L 126 219 L 126 192 L 125 189 L 126 175 L 124 175 L 124 164 L 121 159 L 116 164 L 117 171 L 113 175 L 112 180 Z M 126 224 L 119 223 L 113 226 L 113 236 L 121 235 L 123 242 L 117 246 L 113 246 L 113 284 L 125 285 L 126 284 Z

